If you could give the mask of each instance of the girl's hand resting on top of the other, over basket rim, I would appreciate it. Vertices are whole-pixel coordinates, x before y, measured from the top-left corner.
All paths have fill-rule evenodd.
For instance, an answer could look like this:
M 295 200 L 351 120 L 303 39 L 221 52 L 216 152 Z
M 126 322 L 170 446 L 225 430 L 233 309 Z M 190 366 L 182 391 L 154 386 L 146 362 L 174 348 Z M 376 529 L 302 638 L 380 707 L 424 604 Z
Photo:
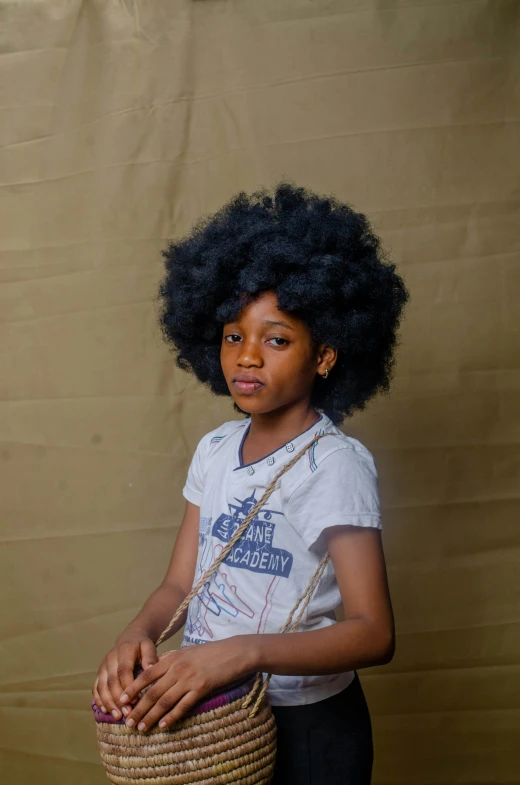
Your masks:
M 120 697 L 121 704 L 129 704 L 144 687 L 156 682 L 126 715 L 127 727 L 137 725 L 144 731 L 159 720 L 160 728 L 173 725 L 209 692 L 253 673 L 254 638 L 238 635 L 161 655 L 159 662 L 141 673 Z

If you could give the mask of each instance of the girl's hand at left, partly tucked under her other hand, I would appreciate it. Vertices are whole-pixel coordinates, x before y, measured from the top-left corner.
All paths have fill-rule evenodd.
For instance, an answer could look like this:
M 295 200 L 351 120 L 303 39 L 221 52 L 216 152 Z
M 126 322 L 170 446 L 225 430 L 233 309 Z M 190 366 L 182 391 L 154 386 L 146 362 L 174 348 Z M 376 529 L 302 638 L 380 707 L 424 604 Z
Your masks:
M 136 664 L 141 663 L 146 670 L 156 662 L 155 644 L 145 632 L 123 632 L 99 667 L 92 689 L 96 705 L 104 714 L 112 714 L 116 720 L 120 720 L 120 696 L 133 683 Z M 124 706 L 123 713 L 129 714 L 130 708 Z

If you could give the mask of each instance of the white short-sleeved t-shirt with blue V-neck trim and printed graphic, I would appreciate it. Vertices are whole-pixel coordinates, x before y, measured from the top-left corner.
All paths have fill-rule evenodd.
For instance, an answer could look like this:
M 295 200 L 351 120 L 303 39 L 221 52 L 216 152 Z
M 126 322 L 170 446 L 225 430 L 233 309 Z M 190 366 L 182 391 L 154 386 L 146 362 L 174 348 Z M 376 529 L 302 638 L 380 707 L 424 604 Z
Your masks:
M 259 461 L 244 465 L 249 419 L 226 422 L 206 434 L 191 462 L 183 494 L 200 507 L 195 582 L 213 564 L 274 476 L 316 434 L 316 442 L 280 478 L 265 507 L 249 524 L 193 598 L 182 646 L 232 635 L 278 633 L 306 590 L 326 551 L 323 529 L 355 525 L 381 528 L 377 470 L 361 442 L 322 414 L 311 428 Z M 295 632 L 335 624 L 341 596 L 329 561 Z M 289 635 L 291 633 L 285 633 Z M 273 706 L 324 700 L 343 690 L 354 671 L 321 676 L 273 675 Z

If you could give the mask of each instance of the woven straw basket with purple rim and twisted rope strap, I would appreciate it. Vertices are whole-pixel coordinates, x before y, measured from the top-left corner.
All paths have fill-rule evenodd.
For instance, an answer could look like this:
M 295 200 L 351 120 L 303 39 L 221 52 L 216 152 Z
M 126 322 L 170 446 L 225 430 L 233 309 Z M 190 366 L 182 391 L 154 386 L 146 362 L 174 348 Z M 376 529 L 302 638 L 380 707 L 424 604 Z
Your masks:
M 218 558 L 183 600 L 157 646 L 167 638 L 193 597 L 238 542 L 273 493 L 279 478 L 326 435 L 315 436 L 276 475 Z M 329 555 L 325 554 L 280 632 L 294 632 L 328 560 Z M 267 785 L 272 780 L 276 760 L 276 724 L 266 699 L 270 678 L 268 675 L 264 682 L 258 673 L 248 681 L 226 685 L 206 696 L 170 728 L 162 730 L 156 726 L 144 733 L 127 728 L 124 719 L 115 721 L 111 715 L 102 714 L 93 703 L 98 745 L 108 779 L 116 785 Z

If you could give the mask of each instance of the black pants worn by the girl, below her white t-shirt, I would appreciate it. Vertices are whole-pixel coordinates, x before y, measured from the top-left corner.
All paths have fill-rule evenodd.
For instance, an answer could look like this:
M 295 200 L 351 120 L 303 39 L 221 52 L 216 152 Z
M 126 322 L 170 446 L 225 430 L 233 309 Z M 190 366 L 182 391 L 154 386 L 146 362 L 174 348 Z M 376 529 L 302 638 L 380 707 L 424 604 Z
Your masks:
M 357 673 L 332 698 L 273 706 L 278 729 L 272 785 L 370 785 L 372 725 Z

